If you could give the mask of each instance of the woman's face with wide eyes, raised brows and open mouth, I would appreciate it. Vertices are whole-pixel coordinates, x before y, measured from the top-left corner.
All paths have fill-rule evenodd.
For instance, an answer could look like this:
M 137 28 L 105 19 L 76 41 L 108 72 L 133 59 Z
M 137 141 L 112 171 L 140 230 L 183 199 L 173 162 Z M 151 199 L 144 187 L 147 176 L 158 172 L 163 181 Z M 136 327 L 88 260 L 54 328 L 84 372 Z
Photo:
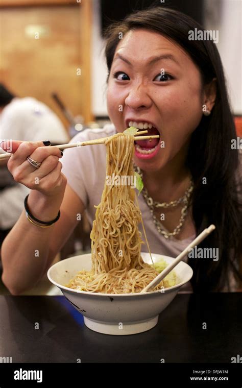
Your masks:
M 134 161 L 141 169 L 157 171 L 173 159 L 184 161 L 202 105 L 199 69 L 181 47 L 144 29 L 120 40 L 108 80 L 109 117 L 117 132 L 134 126 L 160 134 L 135 144 Z

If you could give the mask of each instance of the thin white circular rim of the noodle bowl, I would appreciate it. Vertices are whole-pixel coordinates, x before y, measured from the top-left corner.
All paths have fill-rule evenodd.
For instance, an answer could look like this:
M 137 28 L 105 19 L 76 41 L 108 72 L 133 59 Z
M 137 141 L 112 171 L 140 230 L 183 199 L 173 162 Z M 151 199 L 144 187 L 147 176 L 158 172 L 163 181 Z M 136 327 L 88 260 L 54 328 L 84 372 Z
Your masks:
M 147 253 L 147 252 L 141 252 L 141 255 L 143 253 Z M 157 253 L 151 253 L 152 255 L 157 255 Z M 71 257 L 67 257 L 66 259 L 63 259 L 63 260 L 60 260 L 58 261 L 57 263 L 53 264 L 49 270 L 47 271 L 47 278 L 50 280 L 51 283 L 53 283 L 55 286 L 57 286 L 58 288 L 60 289 L 65 289 L 66 291 L 71 291 L 71 292 L 74 292 L 76 294 L 82 294 L 82 295 L 94 295 L 94 296 L 102 296 L 102 297 L 134 297 L 134 296 L 145 296 L 145 295 L 151 295 L 151 294 L 165 294 L 166 291 L 170 291 L 170 290 L 173 290 L 173 289 L 176 289 L 176 288 L 180 288 L 182 285 L 186 284 L 187 282 L 189 282 L 189 280 L 192 278 L 193 276 L 193 270 L 191 268 L 191 266 L 189 264 L 187 264 L 185 261 L 181 260 L 180 262 L 182 262 L 183 264 L 185 264 L 189 270 L 191 271 L 191 274 L 189 275 L 189 279 L 186 280 L 186 281 L 183 281 L 179 284 L 175 284 L 173 285 L 172 287 L 167 287 L 167 288 L 161 288 L 161 289 L 157 289 L 156 291 L 148 291 L 146 293 L 128 293 L 128 294 L 105 294 L 105 293 L 91 293 L 90 291 L 81 291 L 79 289 L 75 289 L 75 288 L 69 288 L 69 287 L 66 287 L 65 285 L 62 285 L 62 284 L 59 284 L 57 283 L 55 280 L 53 280 L 51 278 L 51 275 L 50 275 L 50 272 L 51 270 L 55 267 L 55 266 L 58 266 L 58 264 L 60 262 L 63 262 L 63 261 L 66 261 L 66 260 L 72 260 L 74 259 L 75 257 L 81 257 L 81 256 L 86 256 L 86 255 L 91 255 L 91 253 L 84 253 L 83 255 L 77 255 L 77 256 L 71 256 Z M 167 258 L 171 258 L 171 259 L 175 259 L 175 257 L 172 257 L 172 256 L 166 256 L 166 255 L 162 255 L 162 254 L 158 254 L 159 256 L 162 256 L 162 257 L 167 257 Z M 180 263 L 178 263 L 177 265 L 179 265 Z M 162 292 L 161 292 L 162 290 Z

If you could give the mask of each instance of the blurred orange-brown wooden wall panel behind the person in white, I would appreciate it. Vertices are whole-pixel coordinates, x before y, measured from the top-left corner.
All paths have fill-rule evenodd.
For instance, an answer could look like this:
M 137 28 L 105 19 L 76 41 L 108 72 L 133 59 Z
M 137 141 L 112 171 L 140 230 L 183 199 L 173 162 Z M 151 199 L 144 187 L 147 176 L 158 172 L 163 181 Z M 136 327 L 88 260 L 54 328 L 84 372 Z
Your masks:
M 87 70 L 90 3 L 82 0 L 83 7 L 76 4 L 0 10 L 0 80 L 19 96 L 31 95 L 49 105 L 66 126 L 51 98 L 53 91 L 74 115 L 82 114 L 86 120 L 92 118 Z M 30 26 L 32 36 L 26 33 Z M 38 26 L 46 33 L 41 35 Z M 39 31 L 38 39 L 35 30 Z M 83 70 L 81 76 L 77 75 L 78 68 Z

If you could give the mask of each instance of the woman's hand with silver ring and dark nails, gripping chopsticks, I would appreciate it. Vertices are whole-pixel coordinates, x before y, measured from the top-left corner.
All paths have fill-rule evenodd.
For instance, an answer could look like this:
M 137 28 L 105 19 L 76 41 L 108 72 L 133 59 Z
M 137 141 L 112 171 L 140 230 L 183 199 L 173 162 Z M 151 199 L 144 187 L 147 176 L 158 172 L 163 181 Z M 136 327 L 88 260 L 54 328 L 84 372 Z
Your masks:
M 1 146 L 5 150 L 4 142 Z M 62 163 L 59 161 L 63 153 L 57 147 L 46 147 L 42 141 L 17 140 L 12 140 L 11 146 L 13 155 L 8 161 L 8 169 L 16 182 L 47 197 L 63 193 L 66 178 L 61 173 Z M 41 166 L 32 166 L 27 160 L 28 156 L 41 163 Z

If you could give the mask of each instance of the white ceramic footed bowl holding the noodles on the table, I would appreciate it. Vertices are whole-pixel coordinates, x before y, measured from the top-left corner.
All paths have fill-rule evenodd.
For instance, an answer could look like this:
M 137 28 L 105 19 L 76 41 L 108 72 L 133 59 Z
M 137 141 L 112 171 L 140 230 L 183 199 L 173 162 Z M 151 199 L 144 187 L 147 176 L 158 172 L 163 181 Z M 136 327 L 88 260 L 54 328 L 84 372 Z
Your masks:
M 141 253 L 145 262 L 151 263 L 148 253 Z M 173 257 L 152 253 L 154 261 Z M 54 264 L 48 271 L 49 280 L 59 287 L 66 299 L 84 316 L 85 325 L 104 334 L 127 335 L 152 329 L 158 314 L 177 295 L 179 288 L 192 277 L 192 269 L 181 261 L 175 268 L 177 284 L 161 291 L 143 294 L 101 294 L 78 291 L 65 287 L 79 271 L 91 269 L 91 254 L 70 257 Z

